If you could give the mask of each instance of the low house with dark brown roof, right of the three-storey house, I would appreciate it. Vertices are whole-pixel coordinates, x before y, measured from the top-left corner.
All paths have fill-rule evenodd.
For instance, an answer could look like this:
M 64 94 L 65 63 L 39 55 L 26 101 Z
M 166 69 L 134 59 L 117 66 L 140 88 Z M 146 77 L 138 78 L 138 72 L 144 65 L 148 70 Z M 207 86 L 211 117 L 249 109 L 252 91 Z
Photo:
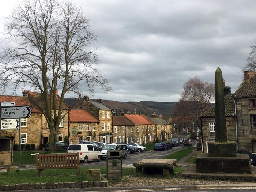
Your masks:
M 113 142 L 114 143 L 129 143 L 134 138 L 133 130 L 135 124 L 133 124 L 128 118 L 124 116 L 113 117 Z M 130 139 L 130 140 L 129 140 Z

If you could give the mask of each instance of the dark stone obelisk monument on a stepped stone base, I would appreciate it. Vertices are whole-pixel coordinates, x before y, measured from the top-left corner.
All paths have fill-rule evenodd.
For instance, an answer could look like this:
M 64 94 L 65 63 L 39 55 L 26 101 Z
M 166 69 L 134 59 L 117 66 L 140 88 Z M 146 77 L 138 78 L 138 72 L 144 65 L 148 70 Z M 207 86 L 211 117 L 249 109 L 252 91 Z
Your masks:
M 196 157 L 196 166 L 189 166 L 182 175 L 256 179 L 255 173 L 252 174 L 251 159 L 246 154 L 237 154 L 236 145 L 236 142 L 229 142 L 227 138 L 222 71 L 218 67 L 215 71 L 215 141 L 208 142 L 208 153 L 199 153 Z

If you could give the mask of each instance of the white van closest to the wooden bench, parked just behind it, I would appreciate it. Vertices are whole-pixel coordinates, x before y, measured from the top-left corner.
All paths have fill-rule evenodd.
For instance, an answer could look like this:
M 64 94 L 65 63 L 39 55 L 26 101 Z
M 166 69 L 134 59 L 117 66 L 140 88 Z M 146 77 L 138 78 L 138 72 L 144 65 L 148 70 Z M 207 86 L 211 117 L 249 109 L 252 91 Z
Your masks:
M 87 161 L 97 162 L 101 161 L 101 152 L 99 149 L 92 144 L 70 144 L 68 147 L 68 153 L 77 153 L 79 152 L 79 159 L 83 163 Z

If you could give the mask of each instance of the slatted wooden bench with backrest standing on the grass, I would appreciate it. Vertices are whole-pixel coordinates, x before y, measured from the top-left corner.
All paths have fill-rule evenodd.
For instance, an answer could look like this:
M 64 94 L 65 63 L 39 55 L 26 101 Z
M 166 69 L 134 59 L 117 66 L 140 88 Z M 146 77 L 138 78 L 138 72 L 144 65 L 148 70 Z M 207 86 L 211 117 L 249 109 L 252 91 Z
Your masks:
M 36 154 L 35 169 L 36 176 L 44 169 L 76 169 L 80 175 L 79 153 Z

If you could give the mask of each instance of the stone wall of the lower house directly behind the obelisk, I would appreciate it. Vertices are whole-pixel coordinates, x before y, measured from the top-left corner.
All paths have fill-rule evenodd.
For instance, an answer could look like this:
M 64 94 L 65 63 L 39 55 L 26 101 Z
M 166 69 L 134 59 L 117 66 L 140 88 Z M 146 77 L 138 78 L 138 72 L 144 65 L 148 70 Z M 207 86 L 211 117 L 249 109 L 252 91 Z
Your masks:
M 204 153 L 207 152 L 207 147 L 206 147 L 207 140 L 215 139 L 215 132 L 210 132 L 210 123 L 215 123 L 215 117 L 202 118 Z M 226 117 L 226 124 L 227 124 L 227 138 L 229 139 L 229 141 L 236 141 L 235 118 Z

